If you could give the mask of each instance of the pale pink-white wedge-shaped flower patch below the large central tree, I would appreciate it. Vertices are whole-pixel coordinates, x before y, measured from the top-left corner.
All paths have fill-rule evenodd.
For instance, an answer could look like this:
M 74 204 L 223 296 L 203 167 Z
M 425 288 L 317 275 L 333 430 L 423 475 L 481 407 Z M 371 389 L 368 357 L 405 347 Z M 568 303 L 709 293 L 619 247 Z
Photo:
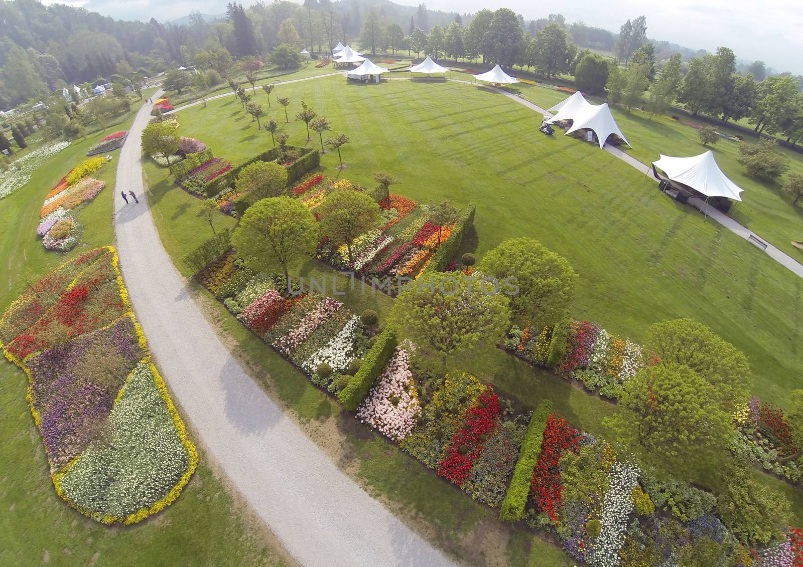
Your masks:
M 394 441 L 401 441 L 413 431 L 421 405 L 413 388 L 410 354 L 397 347 L 388 366 L 368 397 L 357 408 L 357 417 Z

